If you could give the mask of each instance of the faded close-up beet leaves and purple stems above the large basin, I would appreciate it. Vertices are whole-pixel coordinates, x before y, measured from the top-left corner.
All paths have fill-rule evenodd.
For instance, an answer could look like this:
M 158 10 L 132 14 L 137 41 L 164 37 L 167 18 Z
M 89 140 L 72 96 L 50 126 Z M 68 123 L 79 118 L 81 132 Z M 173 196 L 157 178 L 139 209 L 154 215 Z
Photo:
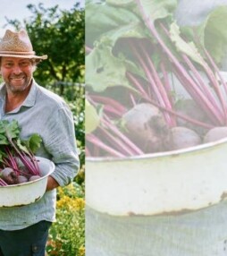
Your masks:
M 86 35 L 87 99 L 102 111 L 97 110 L 97 128 L 87 134 L 87 156 L 123 158 L 203 143 L 207 131 L 227 125 L 227 85 L 215 52 L 205 47 L 206 26 L 201 42 L 197 28 L 191 37 L 176 24 L 176 1 L 126 2 L 97 8 L 88 1 L 97 29 Z M 188 96 L 181 98 L 181 88 Z M 203 115 L 179 110 L 179 101 L 187 99 Z M 152 114 L 150 105 L 160 113 Z

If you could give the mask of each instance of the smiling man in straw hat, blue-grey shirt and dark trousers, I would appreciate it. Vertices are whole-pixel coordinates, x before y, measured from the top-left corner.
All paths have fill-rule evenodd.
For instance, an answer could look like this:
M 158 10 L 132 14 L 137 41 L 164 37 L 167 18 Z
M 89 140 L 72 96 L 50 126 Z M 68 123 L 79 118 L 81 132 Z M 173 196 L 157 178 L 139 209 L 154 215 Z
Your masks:
M 33 51 L 25 30 L 6 30 L 0 41 L 0 118 L 17 120 L 21 137 L 42 137 L 36 155 L 55 163 L 45 195 L 27 206 L 0 208 L 0 255 L 44 256 L 48 229 L 55 221 L 55 188 L 71 183 L 79 169 L 73 119 L 63 99 L 33 79 L 38 62 L 46 55 Z M 0 195 L 1 196 L 1 195 Z

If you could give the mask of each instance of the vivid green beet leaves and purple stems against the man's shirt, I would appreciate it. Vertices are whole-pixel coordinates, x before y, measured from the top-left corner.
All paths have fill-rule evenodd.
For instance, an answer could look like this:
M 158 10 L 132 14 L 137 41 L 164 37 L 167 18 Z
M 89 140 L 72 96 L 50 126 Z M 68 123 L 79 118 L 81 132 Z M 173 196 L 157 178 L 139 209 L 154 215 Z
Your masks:
M 22 141 L 20 133 L 21 127 L 16 120 L 0 121 L 0 168 L 2 169 L 0 175 L 8 167 L 16 176 L 39 175 L 38 162 L 34 153 L 40 146 L 41 137 L 34 133 L 27 141 Z M 4 179 L 4 176 L 1 176 L 1 179 Z M 7 179 L 4 181 L 7 183 Z M 5 183 L 0 180 L 0 185 Z

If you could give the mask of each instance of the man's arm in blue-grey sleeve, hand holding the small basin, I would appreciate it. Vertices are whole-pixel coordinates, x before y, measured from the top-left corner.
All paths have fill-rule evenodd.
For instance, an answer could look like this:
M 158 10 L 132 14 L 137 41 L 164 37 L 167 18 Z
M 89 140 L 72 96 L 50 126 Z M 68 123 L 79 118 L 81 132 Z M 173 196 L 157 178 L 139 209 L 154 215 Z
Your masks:
M 80 160 L 68 107 L 58 109 L 50 117 L 47 131 L 45 148 L 55 163 L 55 171 L 47 180 L 46 191 L 49 191 L 71 183 L 80 168 Z

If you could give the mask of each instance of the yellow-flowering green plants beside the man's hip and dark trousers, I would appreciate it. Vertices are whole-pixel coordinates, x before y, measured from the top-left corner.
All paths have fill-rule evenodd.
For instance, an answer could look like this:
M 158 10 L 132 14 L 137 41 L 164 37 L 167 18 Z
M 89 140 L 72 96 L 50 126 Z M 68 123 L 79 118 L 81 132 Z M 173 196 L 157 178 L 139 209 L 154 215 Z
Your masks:
M 57 196 L 57 222 L 51 226 L 46 252 L 49 256 L 84 256 L 84 187 L 71 183 L 59 188 Z

